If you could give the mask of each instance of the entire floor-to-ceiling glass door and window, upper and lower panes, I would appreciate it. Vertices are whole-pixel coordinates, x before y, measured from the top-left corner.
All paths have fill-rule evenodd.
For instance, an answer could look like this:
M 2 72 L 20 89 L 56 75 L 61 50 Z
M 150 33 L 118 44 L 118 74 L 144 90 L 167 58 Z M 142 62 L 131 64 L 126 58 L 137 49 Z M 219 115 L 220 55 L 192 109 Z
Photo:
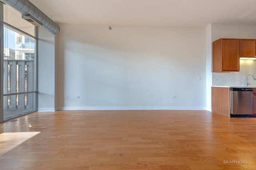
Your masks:
M 3 8 L 3 120 L 36 111 L 36 28 L 9 6 Z M 2 36 L 1 36 L 2 37 Z

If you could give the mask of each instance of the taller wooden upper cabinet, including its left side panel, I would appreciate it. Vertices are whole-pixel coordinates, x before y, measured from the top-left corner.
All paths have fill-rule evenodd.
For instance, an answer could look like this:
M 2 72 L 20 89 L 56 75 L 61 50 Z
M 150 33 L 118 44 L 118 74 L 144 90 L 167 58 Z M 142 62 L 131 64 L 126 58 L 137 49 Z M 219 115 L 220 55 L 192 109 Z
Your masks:
M 212 43 L 212 72 L 238 72 L 239 39 L 218 39 Z

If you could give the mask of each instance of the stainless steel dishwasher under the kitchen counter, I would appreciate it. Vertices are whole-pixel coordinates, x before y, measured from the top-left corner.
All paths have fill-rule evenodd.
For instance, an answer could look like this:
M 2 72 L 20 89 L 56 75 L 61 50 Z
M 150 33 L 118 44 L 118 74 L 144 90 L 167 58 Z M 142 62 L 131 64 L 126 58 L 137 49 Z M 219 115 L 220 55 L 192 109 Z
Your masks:
M 232 115 L 251 115 L 252 88 L 230 88 L 230 113 Z

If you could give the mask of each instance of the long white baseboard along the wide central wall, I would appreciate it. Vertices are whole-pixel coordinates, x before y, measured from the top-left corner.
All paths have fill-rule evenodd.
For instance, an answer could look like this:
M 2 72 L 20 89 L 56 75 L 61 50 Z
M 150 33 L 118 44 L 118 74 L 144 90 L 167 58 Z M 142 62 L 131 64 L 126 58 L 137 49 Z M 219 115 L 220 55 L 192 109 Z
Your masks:
M 58 110 L 206 110 L 206 107 L 58 107 Z

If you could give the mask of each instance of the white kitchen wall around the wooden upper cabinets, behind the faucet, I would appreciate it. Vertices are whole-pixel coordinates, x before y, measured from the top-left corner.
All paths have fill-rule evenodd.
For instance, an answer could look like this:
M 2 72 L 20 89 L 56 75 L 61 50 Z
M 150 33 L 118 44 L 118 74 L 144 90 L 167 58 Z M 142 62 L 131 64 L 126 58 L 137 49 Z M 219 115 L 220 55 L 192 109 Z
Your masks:
M 256 25 L 211 24 L 212 41 L 220 38 L 256 39 Z M 240 61 L 240 72 L 212 73 L 212 85 L 244 86 L 248 74 L 256 76 L 256 61 Z M 256 81 L 250 76 L 250 86 L 256 86 Z

